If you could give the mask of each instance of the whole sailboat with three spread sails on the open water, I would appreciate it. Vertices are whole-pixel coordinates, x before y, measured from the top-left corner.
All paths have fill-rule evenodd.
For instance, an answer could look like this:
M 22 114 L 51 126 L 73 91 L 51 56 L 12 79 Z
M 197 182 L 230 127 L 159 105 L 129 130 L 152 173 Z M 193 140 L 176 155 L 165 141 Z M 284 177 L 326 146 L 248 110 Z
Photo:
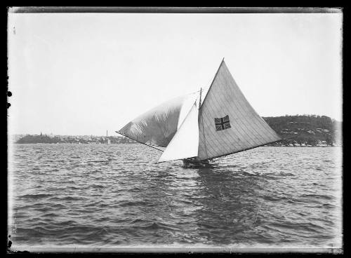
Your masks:
M 162 151 L 158 162 L 182 160 L 187 168 L 282 140 L 241 93 L 224 58 L 206 94 L 200 88 L 168 100 L 116 133 Z

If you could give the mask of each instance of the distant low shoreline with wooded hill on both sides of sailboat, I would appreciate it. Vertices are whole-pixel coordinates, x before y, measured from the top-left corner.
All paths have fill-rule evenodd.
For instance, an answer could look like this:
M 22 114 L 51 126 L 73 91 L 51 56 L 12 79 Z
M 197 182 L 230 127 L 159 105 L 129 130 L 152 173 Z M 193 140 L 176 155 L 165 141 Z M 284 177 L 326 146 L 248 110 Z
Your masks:
M 333 147 L 342 146 L 342 122 L 328 116 L 296 115 L 263 117 L 263 120 L 280 136 L 281 142 L 266 144 L 274 147 Z M 74 143 L 74 144 L 131 144 L 137 143 L 124 136 L 93 135 L 11 135 L 11 142 Z

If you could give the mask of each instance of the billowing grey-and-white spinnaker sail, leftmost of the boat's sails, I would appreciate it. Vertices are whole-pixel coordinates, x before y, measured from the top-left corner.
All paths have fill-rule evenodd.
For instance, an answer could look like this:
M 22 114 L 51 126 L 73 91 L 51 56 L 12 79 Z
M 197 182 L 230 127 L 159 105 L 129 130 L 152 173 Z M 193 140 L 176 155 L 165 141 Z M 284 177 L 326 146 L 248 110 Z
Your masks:
M 118 133 L 138 142 L 166 147 L 191 109 L 197 95 L 191 93 L 164 102 L 124 125 Z

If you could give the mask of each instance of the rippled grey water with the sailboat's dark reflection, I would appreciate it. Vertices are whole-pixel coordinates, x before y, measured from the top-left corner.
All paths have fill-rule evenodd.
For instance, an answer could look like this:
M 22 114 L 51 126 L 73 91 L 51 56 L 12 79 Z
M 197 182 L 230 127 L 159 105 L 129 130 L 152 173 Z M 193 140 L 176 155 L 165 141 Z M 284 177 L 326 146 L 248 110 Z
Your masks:
M 15 144 L 8 231 L 20 247 L 341 247 L 338 147 L 260 147 L 215 168 L 141 144 Z

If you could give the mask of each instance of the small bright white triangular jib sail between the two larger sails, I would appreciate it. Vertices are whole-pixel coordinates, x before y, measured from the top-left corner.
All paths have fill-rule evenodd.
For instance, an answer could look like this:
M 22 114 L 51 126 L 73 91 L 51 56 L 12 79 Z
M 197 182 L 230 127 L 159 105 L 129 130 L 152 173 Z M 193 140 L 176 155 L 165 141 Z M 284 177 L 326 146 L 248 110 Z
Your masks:
M 194 102 L 192 109 L 180 125 L 176 135 L 168 144 L 159 162 L 175 161 L 177 159 L 197 157 L 199 147 L 199 109 Z

